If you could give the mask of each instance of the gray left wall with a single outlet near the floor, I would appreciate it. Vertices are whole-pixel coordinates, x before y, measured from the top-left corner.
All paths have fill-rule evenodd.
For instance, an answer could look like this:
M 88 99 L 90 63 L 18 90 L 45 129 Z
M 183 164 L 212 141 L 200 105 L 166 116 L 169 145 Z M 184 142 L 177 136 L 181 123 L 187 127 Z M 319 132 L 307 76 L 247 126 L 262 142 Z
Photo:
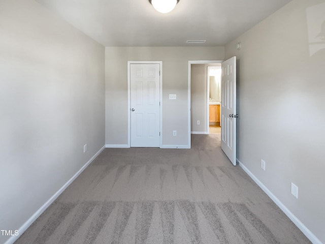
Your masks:
M 32 0 L 1 1 L 0 30 L 0 229 L 16 230 L 105 144 L 105 49 Z

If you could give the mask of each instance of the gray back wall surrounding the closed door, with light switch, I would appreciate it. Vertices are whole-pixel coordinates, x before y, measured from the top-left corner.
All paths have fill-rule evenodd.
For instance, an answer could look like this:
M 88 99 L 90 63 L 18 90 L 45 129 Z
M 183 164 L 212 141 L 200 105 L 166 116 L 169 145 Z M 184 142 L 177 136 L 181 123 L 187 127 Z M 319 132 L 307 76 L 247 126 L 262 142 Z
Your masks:
M 163 62 L 163 145 L 187 145 L 188 61 L 223 58 L 224 47 L 106 47 L 106 144 L 127 144 L 128 60 Z

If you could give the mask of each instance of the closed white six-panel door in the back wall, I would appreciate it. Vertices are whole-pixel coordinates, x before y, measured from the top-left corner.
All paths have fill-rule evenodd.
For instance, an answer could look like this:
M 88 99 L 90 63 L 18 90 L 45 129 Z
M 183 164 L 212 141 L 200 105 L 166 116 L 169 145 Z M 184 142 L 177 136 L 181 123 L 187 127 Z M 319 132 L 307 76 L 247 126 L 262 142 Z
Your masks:
M 131 147 L 159 147 L 159 64 L 131 64 Z

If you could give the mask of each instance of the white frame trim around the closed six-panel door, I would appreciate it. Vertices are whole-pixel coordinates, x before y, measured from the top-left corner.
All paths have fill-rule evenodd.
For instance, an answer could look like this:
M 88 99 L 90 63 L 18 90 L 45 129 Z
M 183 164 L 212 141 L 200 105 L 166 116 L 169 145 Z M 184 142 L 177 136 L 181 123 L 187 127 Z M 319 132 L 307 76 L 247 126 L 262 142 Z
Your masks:
M 127 147 L 131 147 L 131 65 L 143 64 L 151 65 L 158 64 L 159 75 L 159 147 L 163 145 L 163 62 L 162 61 L 127 61 Z

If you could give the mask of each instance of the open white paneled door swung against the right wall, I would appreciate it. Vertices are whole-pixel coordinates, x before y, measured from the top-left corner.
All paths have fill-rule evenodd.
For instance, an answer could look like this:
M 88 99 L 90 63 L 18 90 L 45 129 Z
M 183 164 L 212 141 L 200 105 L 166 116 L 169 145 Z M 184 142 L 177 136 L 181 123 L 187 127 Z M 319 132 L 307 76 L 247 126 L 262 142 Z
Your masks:
M 221 68 L 221 149 L 236 165 L 236 56 Z

